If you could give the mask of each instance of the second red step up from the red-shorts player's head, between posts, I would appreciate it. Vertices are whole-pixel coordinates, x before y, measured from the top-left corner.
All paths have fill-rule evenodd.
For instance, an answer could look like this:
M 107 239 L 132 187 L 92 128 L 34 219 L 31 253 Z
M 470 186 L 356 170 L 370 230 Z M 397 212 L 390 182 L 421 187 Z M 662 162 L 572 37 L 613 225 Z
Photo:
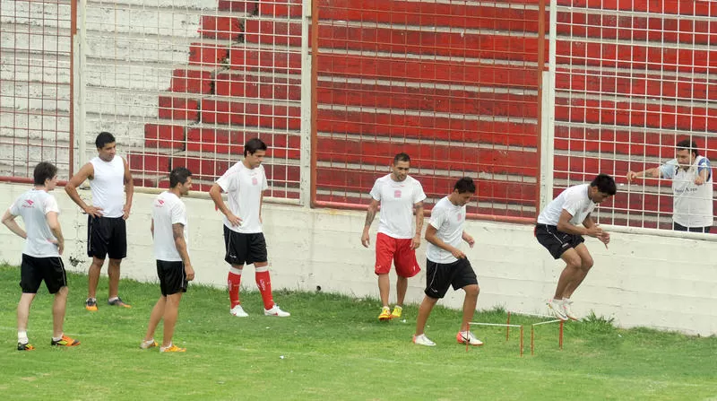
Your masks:
M 475 114 L 484 116 L 537 118 L 538 99 L 535 95 L 506 92 L 469 92 L 457 89 L 437 89 L 427 86 L 377 83 L 319 82 L 316 101 L 334 104 L 383 109 L 423 110 L 439 113 Z

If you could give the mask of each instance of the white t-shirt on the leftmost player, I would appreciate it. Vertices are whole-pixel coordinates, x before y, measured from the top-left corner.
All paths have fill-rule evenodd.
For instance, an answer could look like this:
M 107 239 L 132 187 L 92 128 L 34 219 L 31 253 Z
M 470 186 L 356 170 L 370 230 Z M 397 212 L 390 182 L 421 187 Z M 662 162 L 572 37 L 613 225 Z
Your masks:
M 10 214 L 22 216 L 28 234 L 22 253 L 30 257 L 59 257 L 56 241 L 46 218 L 50 212 L 60 213 L 55 196 L 44 190 L 30 189 L 10 206 Z

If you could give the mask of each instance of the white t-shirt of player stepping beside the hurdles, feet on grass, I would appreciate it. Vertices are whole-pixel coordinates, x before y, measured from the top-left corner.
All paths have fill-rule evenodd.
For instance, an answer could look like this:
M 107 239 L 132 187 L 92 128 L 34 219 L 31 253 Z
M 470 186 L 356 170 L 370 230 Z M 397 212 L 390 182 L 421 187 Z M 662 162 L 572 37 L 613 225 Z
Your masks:
M 465 223 L 465 205 L 457 206 L 448 200 L 448 196 L 439 200 L 431 211 L 431 220 L 428 224 L 436 228 L 436 237 L 454 248 L 461 245 L 463 238 L 463 224 Z M 454 263 L 457 258 L 451 252 L 428 242 L 426 257 L 431 262 L 447 264 Z

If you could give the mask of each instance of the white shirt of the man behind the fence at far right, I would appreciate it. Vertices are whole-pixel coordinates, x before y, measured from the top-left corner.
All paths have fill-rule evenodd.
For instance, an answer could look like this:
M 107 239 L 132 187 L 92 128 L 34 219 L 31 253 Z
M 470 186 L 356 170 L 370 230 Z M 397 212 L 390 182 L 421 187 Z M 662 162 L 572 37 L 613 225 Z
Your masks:
M 707 180 L 696 185 L 700 172 L 707 170 Z M 706 157 L 697 156 L 689 169 L 680 169 L 677 159 L 660 166 L 661 176 L 672 179 L 672 220 L 685 227 L 710 227 L 713 219 L 712 166 Z

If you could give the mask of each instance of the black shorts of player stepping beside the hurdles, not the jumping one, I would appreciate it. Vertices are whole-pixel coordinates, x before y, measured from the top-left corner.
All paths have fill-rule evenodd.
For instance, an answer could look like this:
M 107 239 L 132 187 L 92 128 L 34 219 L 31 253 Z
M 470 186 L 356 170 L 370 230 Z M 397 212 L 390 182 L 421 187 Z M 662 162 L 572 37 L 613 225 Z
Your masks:
M 425 293 L 428 297 L 443 298 L 451 285 L 454 290 L 459 290 L 471 284 L 478 285 L 478 277 L 467 257 L 447 264 L 426 259 Z

